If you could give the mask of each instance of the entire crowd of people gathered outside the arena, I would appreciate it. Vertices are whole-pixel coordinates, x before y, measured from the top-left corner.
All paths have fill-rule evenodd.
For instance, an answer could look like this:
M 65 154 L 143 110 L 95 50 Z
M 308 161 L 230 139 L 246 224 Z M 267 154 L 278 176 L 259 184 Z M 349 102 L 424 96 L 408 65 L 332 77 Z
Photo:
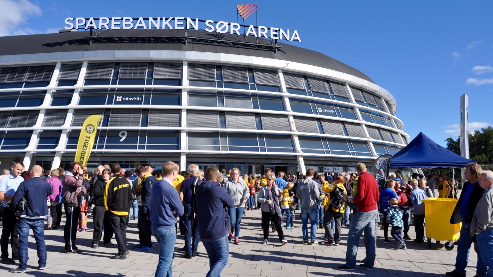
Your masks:
M 277 232 L 281 245 L 287 244 L 284 229 L 295 228 L 299 210 L 301 243 L 319 244 L 317 229 L 323 229 L 322 242 L 339 246 L 342 227 L 349 227 L 346 263 L 338 269 L 356 268 L 358 242 L 364 236 L 366 257 L 359 267 L 373 270 L 378 223 L 384 231 L 384 243 L 390 242 L 390 226 L 395 247 L 407 249 L 405 241 L 423 243 L 425 240 L 423 200 L 435 195 L 458 197 L 457 185 L 446 175 L 439 175 L 435 181 L 432 175 L 425 178 L 415 173 L 406 182 L 400 173 L 392 173 L 385 187 L 379 187 L 363 163 L 356 165 L 357 173 L 321 174 L 308 169 L 298 176 L 274 174 L 270 169 L 259 176 L 241 175 L 237 168 L 229 169 L 228 173 L 216 167 L 202 171 L 193 164 L 180 172 L 174 162 L 165 163 L 161 173 L 153 173 L 154 168 L 152 164 L 140 165 L 135 170 L 122 169 L 119 164 L 101 165 L 89 175 L 86 167 L 72 163 L 68 170 L 43 171 L 36 165 L 26 172 L 23 163 L 14 160 L 10 171 L 0 176 L 2 263 L 15 264 L 18 260 L 19 267 L 10 271 L 27 271 L 27 243 L 29 230 L 33 229 L 38 269 L 43 270 L 46 266 L 44 231 L 60 227 L 63 206 L 68 254 L 81 252 L 76 237 L 78 232 L 86 230 L 90 215 L 91 247 L 99 247 L 102 237 L 104 245 L 113 246 L 114 238 L 118 252 L 111 259 L 126 259 L 129 253 L 126 230 L 129 220 L 134 219 L 138 220 L 139 243 L 132 247 L 137 251 L 152 251 L 152 236 L 159 246 L 156 276 L 171 276 L 177 235 L 184 237 L 183 258 L 196 257 L 198 244 L 202 242 L 210 260 L 207 276 L 219 276 L 228 263 L 229 244 L 242 242 L 241 221 L 245 211 L 260 209 L 263 244 L 269 243 L 271 232 Z M 490 191 L 493 172 L 483 172 L 471 163 L 465 168 L 465 177 L 468 181 L 450 220 L 451 224 L 462 222 L 457 261 L 455 270 L 446 275 L 465 277 L 469 249 L 474 243 L 478 253 L 477 276 L 486 276 L 492 273 L 490 266 L 493 266 Z M 414 240 L 409 233 L 411 217 Z

